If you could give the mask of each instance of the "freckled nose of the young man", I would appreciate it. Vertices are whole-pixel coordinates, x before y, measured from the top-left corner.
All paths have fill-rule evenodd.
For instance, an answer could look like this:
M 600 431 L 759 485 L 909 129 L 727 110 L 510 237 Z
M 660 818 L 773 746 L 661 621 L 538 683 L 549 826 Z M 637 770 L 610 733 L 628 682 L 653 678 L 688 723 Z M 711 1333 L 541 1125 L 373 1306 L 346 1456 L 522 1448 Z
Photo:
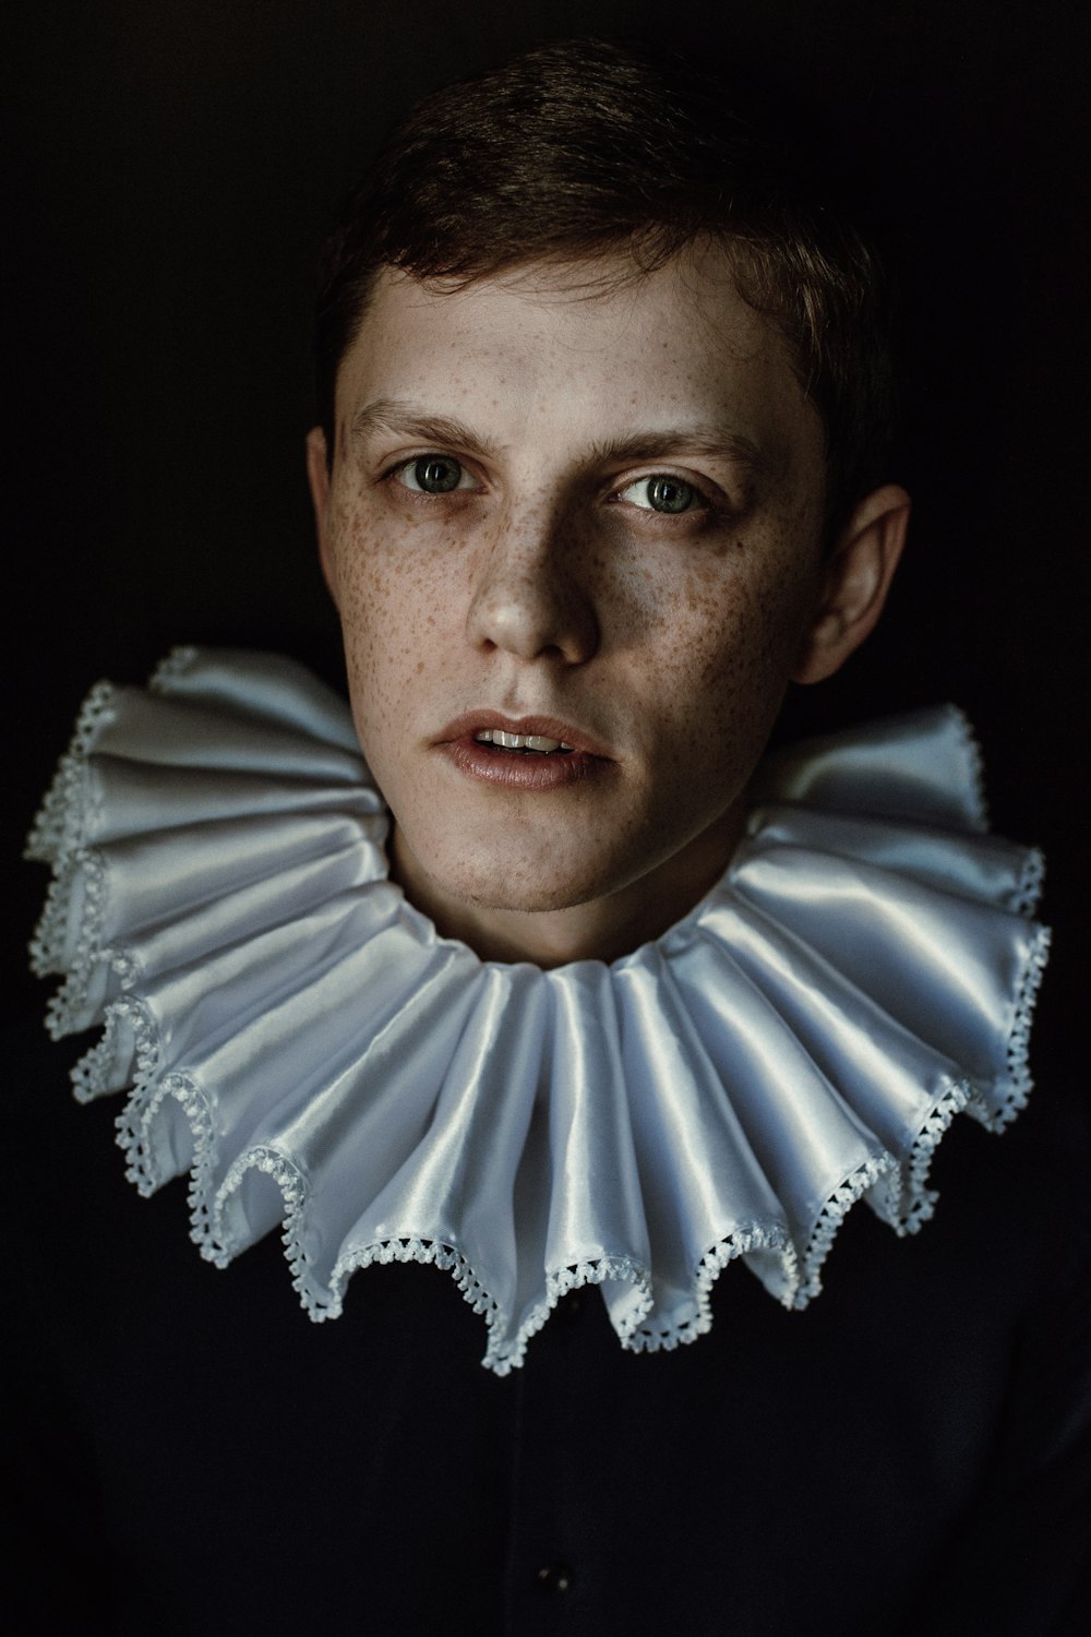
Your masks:
M 563 519 L 507 519 L 489 543 L 466 617 L 474 648 L 582 665 L 599 648 L 581 542 Z

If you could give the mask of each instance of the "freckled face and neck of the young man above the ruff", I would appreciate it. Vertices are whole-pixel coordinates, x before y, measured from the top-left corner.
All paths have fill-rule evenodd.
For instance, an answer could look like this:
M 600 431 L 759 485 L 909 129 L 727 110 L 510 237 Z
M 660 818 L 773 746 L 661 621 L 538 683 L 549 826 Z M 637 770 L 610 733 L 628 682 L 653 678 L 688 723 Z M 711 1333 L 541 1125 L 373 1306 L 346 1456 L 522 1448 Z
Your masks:
M 329 483 L 311 435 L 394 874 L 541 964 L 612 958 L 713 884 L 788 679 L 844 656 L 823 429 L 780 334 L 720 255 L 572 288 L 602 272 L 383 275 Z

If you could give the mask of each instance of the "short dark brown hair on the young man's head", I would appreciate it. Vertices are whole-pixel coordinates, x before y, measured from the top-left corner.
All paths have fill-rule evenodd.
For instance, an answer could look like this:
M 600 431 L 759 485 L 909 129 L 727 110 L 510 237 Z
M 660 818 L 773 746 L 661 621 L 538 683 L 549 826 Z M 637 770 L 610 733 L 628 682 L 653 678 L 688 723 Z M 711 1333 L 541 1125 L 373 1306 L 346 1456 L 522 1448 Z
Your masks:
M 322 257 L 317 409 L 330 458 L 337 368 L 383 267 L 461 288 L 626 250 L 638 277 L 712 239 L 743 300 L 788 340 L 824 426 L 837 524 L 885 476 L 890 290 L 813 157 L 739 103 L 692 62 L 597 39 L 541 46 L 422 101 L 347 200 Z

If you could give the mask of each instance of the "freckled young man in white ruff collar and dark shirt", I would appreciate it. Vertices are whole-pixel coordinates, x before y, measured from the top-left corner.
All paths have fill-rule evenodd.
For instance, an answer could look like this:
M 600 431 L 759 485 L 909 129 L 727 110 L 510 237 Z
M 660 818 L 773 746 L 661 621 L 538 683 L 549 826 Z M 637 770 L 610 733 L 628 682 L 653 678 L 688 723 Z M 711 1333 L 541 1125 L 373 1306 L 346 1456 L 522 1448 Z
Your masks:
M 1040 859 L 955 710 L 762 755 L 903 548 L 887 319 L 836 193 L 612 44 L 438 93 L 350 198 L 352 717 L 180 650 L 31 843 L 83 1118 L 128 1089 L 229 1272 L 38 1116 L 21 1629 L 1081 1629 L 1081 1126 L 980 1130 Z

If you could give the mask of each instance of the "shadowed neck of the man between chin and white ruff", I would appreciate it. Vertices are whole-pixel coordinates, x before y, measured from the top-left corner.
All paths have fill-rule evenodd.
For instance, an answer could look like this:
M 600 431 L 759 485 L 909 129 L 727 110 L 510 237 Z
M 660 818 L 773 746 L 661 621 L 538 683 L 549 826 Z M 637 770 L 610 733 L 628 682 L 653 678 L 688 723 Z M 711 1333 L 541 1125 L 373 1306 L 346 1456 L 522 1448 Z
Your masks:
M 483 961 L 617 961 L 674 927 L 721 877 L 746 822 L 744 800 L 672 858 L 604 897 L 559 910 L 509 910 L 450 897 L 391 835 L 391 879 L 445 938 L 466 943 Z

